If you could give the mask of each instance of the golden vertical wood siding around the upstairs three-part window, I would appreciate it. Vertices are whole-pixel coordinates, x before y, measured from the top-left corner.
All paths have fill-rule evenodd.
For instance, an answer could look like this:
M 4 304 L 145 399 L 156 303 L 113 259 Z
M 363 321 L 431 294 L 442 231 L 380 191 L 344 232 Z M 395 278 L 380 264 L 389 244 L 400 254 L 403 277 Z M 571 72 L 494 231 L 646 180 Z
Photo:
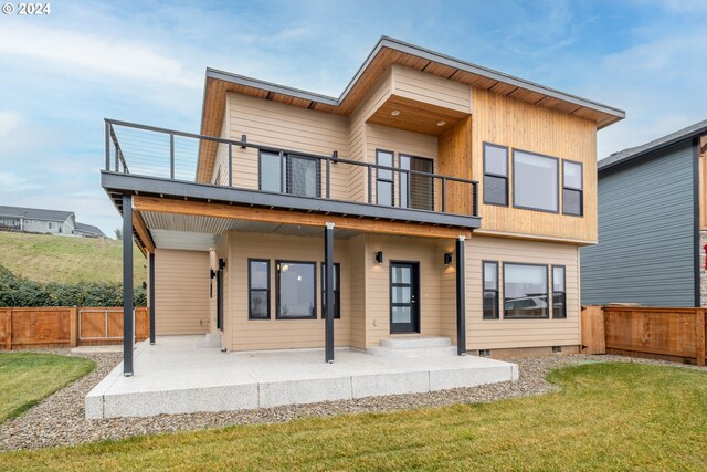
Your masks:
M 485 232 L 552 237 L 576 241 L 597 241 L 597 124 L 590 119 L 536 106 L 489 91 L 474 88 L 472 123 L 473 175 L 479 180 L 479 211 Z M 546 213 L 510 207 L 483 204 L 483 143 L 544 154 L 583 164 L 584 216 Z M 509 156 L 510 202 L 513 203 L 513 156 Z M 560 195 L 561 172 L 560 162 Z M 561 203 L 561 198 L 560 198 Z

